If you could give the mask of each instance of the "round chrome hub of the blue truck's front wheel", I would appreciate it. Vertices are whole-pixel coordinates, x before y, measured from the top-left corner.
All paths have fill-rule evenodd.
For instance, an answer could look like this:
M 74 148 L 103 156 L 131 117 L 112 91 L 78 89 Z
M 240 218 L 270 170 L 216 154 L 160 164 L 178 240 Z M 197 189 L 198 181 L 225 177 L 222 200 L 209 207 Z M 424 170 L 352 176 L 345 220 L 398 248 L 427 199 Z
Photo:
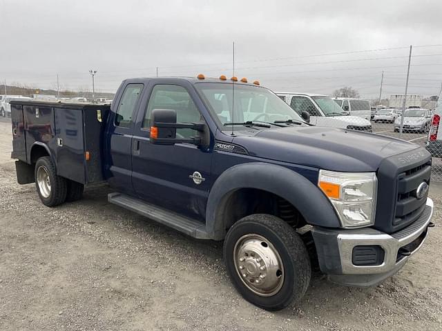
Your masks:
M 252 292 L 270 297 L 284 282 L 284 267 L 278 251 L 259 234 L 246 234 L 233 249 L 236 272 Z

